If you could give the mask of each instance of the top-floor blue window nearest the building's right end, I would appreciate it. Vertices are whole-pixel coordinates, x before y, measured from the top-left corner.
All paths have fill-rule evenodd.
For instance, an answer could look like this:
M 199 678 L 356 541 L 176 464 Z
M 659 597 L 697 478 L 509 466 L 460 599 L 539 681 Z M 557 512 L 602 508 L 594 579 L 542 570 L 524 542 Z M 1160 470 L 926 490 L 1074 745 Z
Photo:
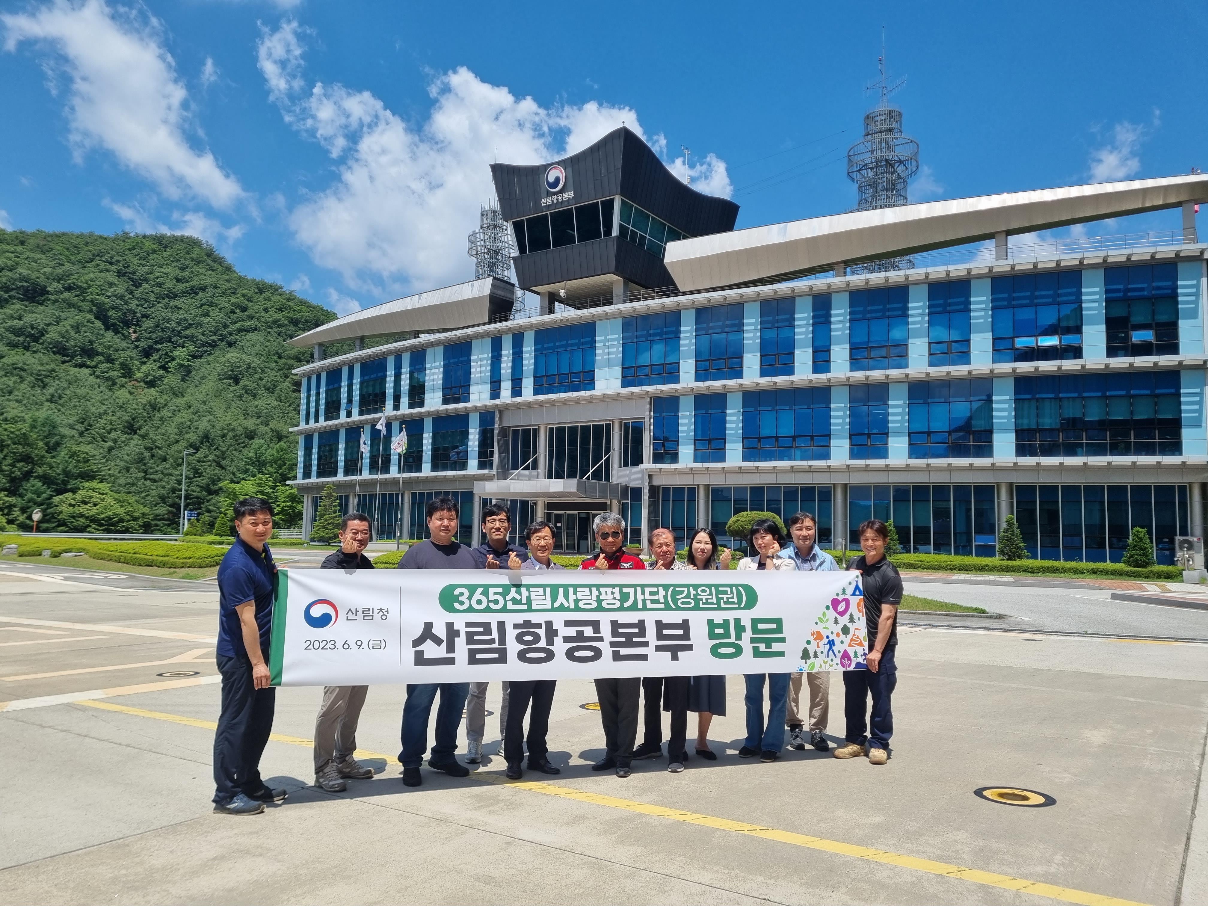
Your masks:
M 1108 358 L 1178 355 L 1178 266 L 1109 267 L 1103 278 Z

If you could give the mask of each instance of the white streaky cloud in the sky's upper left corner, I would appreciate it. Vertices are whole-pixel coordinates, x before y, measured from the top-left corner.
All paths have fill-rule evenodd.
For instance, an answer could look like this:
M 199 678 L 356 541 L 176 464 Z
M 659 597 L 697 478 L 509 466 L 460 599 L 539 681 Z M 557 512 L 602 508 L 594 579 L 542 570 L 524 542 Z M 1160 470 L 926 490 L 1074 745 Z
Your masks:
M 70 82 L 66 115 L 77 159 L 105 149 L 169 198 L 230 208 L 243 197 L 238 180 L 190 140 L 188 93 L 156 19 L 105 0 L 52 0 L 0 16 L 0 23 L 7 51 L 22 41 L 54 50 L 43 65 Z

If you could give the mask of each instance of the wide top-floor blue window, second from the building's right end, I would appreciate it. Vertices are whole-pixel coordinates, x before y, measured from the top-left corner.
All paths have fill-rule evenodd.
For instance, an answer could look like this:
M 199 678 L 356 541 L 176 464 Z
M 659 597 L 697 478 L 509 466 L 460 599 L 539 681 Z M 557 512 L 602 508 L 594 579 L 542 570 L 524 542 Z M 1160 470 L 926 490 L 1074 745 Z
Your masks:
M 1082 358 L 1082 272 L 991 280 L 994 361 Z

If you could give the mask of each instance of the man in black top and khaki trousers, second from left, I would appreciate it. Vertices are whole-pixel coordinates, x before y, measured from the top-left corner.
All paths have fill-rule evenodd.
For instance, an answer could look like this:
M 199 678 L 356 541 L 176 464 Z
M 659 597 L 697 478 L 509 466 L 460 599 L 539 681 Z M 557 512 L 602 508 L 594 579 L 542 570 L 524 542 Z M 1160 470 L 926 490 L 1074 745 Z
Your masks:
M 350 512 L 339 529 L 339 550 L 326 557 L 323 569 L 373 569 L 362 551 L 370 542 L 370 517 Z M 373 768 L 353 757 L 356 721 L 368 686 L 324 686 L 323 705 L 314 722 L 314 785 L 327 792 L 348 789 L 347 778 L 364 780 Z

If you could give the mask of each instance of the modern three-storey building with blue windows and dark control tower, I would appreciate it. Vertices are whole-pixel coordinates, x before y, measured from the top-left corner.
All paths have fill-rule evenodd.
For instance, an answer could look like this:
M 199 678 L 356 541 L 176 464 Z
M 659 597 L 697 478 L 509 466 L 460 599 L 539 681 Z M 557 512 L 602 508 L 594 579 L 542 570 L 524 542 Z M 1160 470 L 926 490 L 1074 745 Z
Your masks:
M 631 544 L 798 509 L 827 546 L 877 516 L 908 550 L 987 557 L 1009 513 L 1046 559 L 1119 561 L 1143 525 L 1172 563 L 1175 536 L 1202 535 L 1208 176 L 733 231 L 734 204 L 626 129 L 493 175 L 540 306 L 512 312 L 493 278 L 294 339 L 315 350 L 297 371 L 307 527 L 335 484 L 384 538 L 423 538 L 424 504 L 452 493 L 463 540 L 507 500 L 579 552 L 605 510 Z M 1172 208 L 1183 227 L 1162 236 L 1009 240 Z

